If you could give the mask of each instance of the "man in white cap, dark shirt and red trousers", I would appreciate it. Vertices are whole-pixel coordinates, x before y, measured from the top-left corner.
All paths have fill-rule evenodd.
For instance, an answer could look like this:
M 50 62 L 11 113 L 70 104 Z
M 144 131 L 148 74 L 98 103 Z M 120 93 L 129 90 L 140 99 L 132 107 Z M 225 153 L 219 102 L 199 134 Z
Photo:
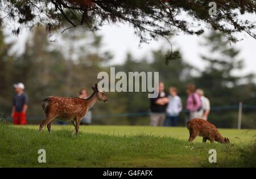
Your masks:
M 26 93 L 24 93 L 24 84 L 18 83 L 14 84 L 14 89 L 16 95 L 13 100 L 13 110 L 11 112 L 11 117 L 13 117 L 14 125 L 26 125 L 26 112 L 27 112 L 27 102 L 28 98 Z

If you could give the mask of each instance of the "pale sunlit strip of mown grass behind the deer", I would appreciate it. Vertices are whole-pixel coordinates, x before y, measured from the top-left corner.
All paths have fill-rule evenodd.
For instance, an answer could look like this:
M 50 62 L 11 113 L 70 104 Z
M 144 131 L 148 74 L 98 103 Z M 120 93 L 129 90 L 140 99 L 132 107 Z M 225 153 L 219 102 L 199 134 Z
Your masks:
M 29 125 L 29 129 L 38 129 L 39 126 Z M 55 125 L 52 126 L 52 133 L 56 130 L 70 130 L 72 132 L 74 127 L 72 125 Z M 44 130 L 47 130 L 46 128 Z M 218 129 L 223 137 L 228 137 L 232 143 L 249 144 L 254 139 L 256 134 L 253 130 L 237 130 L 237 129 Z M 189 133 L 186 127 L 150 127 L 150 126 L 80 126 L 80 131 L 85 133 L 96 133 L 106 135 L 155 135 L 160 137 L 172 137 L 175 139 L 188 140 Z M 201 142 L 202 138 L 197 137 L 195 142 Z

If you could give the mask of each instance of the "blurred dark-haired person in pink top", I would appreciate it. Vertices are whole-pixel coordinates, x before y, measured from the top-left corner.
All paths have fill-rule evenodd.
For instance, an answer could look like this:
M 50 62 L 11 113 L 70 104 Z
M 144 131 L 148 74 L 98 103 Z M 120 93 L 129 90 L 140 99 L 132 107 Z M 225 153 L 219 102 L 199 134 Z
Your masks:
M 188 110 L 188 114 L 189 114 L 187 121 L 193 118 L 202 117 L 201 99 L 200 99 L 200 96 L 195 91 L 196 91 L 196 87 L 194 84 L 187 85 L 188 99 L 187 99 L 186 109 Z

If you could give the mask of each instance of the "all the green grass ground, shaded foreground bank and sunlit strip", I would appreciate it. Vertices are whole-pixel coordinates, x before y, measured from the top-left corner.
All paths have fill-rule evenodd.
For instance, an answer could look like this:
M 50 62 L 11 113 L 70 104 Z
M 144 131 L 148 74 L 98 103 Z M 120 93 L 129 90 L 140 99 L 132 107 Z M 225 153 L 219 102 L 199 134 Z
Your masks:
M 185 127 L 52 126 L 52 135 L 38 126 L 0 125 L 0 167 L 244 167 L 243 151 L 254 131 L 220 129 L 230 144 L 189 143 Z M 38 150 L 46 163 L 38 163 Z M 217 164 L 208 151 L 217 151 Z M 234 164 L 234 161 L 237 164 Z

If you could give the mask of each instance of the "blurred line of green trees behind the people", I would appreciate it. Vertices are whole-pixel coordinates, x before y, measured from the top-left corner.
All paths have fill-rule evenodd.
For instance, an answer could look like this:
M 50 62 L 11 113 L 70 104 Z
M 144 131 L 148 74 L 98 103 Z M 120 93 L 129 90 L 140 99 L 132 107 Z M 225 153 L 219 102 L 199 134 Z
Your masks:
M 0 29 L 0 113 L 10 116 L 14 95 L 13 83 L 23 82 L 29 97 L 28 122 L 39 123 L 44 113 L 41 100 L 47 96 L 78 96 L 81 88 L 92 93 L 92 84 L 98 81 L 100 71 L 110 72 L 109 61 L 112 54 L 102 50 L 101 36 L 91 32 L 77 36 L 75 29 L 68 35 L 60 37 L 60 43 L 50 43 L 44 28 L 35 28 L 27 39 L 24 52 L 20 55 L 11 53 L 15 42 L 7 43 Z M 256 86 L 254 75 L 241 76 L 242 59 L 237 56 L 239 50 L 232 48 L 225 38 L 216 32 L 205 36 L 205 44 L 209 47 L 208 55 L 202 54 L 207 62 L 203 70 L 189 65 L 176 53 L 176 60 L 165 63 L 166 50 L 160 48 L 152 51 L 152 60 L 137 59 L 127 54 L 122 65 L 115 65 L 118 71 L 159 71 L 159 80 L 168 87 L 175 86 L 179 96 L 185 101 L 185 87 L 195 83 L 205 91 L 212 106 L 233 106 L 240 101 L 247 105 L 255 105 Z M 197 75 L 194 75 L 197 74 Z M 237 75 L 238 74 L 238 75 Z M 117 80 L 115 80 L 117 82 Z M 147 92 L 107 92 L 108 103 L 98 101 L 93 106 L 94 124 L 112 125 L 148 125 L 146 115 L 149 108 Z M 133 116 L 136 113 L 137 115 Z M 118 114 L 122 114 L 121 116 Z M 130 114 L 130 115 L 129 115 Z M 243 110 L 242 127 L 247 125 L 256 115 L 256 109 Z M 213 108 L 209 121 L 218 127 L 237 127 L 238 109 Z M 36 118 L 36 120 L 30 120 Z M 10 117 L 9 117 L 10 119 Z M 179 125 L 184 126 L 185 115 L 181 114 Z

